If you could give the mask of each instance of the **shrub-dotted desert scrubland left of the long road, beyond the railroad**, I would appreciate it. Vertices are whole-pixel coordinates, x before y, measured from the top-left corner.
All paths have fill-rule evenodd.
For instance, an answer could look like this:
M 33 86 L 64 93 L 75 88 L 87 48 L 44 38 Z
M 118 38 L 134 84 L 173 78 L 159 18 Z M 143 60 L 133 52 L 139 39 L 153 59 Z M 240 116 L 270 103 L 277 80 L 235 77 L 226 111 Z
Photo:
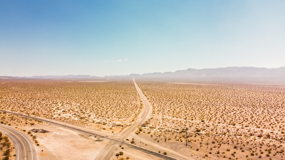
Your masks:
M 133 81 L 0 80 L 0 108 L 119 132 L 142 102 Z

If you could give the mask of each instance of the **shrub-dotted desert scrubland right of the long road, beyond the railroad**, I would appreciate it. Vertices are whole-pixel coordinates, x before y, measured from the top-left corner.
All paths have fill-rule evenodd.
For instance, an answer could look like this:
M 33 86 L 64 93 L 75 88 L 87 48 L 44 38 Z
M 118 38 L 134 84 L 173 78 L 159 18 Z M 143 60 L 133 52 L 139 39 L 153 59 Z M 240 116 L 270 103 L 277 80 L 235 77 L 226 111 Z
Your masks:
M 153 107 L 141 140 L 198 159 L 285 159 L 284 85 L 137 84 Z

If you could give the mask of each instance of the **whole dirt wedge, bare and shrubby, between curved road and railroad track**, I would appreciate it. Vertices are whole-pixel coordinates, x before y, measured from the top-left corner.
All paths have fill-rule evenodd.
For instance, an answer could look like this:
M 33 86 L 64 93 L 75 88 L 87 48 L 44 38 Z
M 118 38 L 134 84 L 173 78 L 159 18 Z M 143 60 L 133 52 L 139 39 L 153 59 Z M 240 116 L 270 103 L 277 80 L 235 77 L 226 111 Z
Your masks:
M 7 126 L 15 127 L 19 132 L 30 135 L 36 148 L 37 159 L 91 160 L 100 155 L 102 146 L 110 143 L 106 139 L 97 141 L 98 138 L 87 134 L 21 116 L 3 113 L 0 113 L 0 116 Z M 49 132 L 39 133 L 38 131 L 43 131 L 42 128 L 45 132 L 47 130 Z

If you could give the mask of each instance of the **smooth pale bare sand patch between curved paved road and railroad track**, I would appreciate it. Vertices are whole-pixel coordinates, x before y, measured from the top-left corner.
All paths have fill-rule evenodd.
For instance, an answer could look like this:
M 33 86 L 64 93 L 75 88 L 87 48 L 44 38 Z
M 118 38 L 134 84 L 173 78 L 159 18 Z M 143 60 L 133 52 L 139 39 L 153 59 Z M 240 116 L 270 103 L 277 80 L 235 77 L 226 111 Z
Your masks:
M 44 129 L 48 133 L 32 133 L 40 144 L 36 147 L 38 159 L 95 159 L 109 140 L 75 132 L 52 124 L 37 124 L 21 129 Z M 43 151 L 42 151 L 43 150 Z

